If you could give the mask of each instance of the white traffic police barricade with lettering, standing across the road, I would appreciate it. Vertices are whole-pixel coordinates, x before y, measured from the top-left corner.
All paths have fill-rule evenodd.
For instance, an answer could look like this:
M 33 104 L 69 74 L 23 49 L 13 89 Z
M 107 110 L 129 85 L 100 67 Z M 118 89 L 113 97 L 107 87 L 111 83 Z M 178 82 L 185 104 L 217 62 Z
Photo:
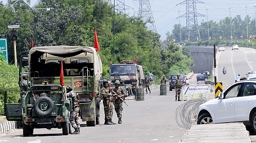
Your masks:
M 208 98 L 210 89 L 210 84 L 182 86 L 183 100 Z

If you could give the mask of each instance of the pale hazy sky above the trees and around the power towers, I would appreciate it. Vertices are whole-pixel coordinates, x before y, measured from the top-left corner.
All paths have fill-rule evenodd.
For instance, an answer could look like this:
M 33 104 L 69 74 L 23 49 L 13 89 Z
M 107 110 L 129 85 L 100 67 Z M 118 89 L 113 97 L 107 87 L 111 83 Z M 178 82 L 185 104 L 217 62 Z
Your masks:
M 1 1 L 1 0 L 0 0 Z M 47 0 L 46 0 L 47 1 Z M 114 0 L 111 0 L 114 4 Z M 139 0 L 119 0 L 120 2 L 124 2 L 124 4 L 129 8 L 126 9 L 126 14 L 131 16 L 138 15 L 138 7 L 139 7 Z M 146 1 L 146 0 L 142 0 Z M 179 23 L 179 15 L 186 13 L 186 5 L 178 5 L 181 2 L 185 2 L 186 0 L 148 0 L 150 2 L 151 11 L 153 14 L 153 18 L 155 21 L 155 26 L 157 33 L 161 35 L 160 40 L 166 40 L 167 32 L 172 32 L 173 27 L 175 24 Z M 199 0 L 195 0 L 199 1 Z M 37 0 L 31 0 L 31 6 L 33 6 Z M 236 15 L 241 15 L 242 19 L 247 15 L 251 17 L 251 19 L 255 18 L 255 7 L 256 5 L 255 0 L 200 0 L 196 4 L 196 11 L 197 13 L 205 15 L 198 16 L 197 22 L 198 25 L 202 21 L 213 20 L 219 22 L 221 19 L 225 17 L 229 17 L 229 12 L 231 18 L 235 17 Z M 7 2 L 6 2 L 7 3 Z M 117 4 L 117 0 L 116 3 Z M 177 5 L 177 6 L 176 6 Z M 230 11 L 229 11 L 230 8 Z M 206 10 L 207 9 L 207 10 Z M 178 14 L 179 11 L 179 14 Z M 186 26 L 186 18 L 180 17 L 180 25 L 181 27 Z

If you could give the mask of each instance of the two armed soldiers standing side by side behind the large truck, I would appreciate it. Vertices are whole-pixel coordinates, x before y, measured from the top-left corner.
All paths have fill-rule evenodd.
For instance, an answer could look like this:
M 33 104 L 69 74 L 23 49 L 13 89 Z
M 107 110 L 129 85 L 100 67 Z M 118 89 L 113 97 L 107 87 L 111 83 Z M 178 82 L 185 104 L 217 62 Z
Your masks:
M 101 94 L 103 96 L 103 106 L 105 113 L 105 125 L 115 125 L 112 121 L 113 105 L 118 117 L 118 124 L 122 124 L 122 110 L 123 110 L 123 97 L 125 96 L 124 89 L 120 87 L 120 81 L 115 81 L 115 88 L 112 88 L 111 81 L 104 81 L 101 88 Z

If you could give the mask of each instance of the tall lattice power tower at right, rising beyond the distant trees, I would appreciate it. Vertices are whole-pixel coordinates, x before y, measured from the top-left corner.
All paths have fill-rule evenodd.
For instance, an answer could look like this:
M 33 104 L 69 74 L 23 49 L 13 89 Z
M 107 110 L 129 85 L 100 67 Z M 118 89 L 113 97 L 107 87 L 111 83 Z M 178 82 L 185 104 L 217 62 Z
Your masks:
M 184 2 L 177 4 L 177 5 L 185 5 L 186 4 L 186 13 L 182 14 L 179 17 L 186 17 L 186 28 L 187 28 L 188 41 L 200 40 L 200 33 L 199 33 L 197 17 L 205 16 L 205 15 L 196 12 L 196 4 L 197 3 L 205 4 L 204 2 L 201 2 L 198 0 L 186 0 Z

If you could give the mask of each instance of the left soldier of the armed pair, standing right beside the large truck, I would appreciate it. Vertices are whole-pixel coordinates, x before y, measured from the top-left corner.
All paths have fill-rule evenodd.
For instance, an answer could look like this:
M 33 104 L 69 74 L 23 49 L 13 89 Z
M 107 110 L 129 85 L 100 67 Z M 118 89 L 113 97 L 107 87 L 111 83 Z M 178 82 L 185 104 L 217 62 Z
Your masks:
M 112 96 L 111 89 L 108 88 L 108 82 L 104 81 L 103 82 L 103 87 L 100 90 L 102 96 L 103 96 L 103 106 L 104 106 L 104 113 L 105 113 L 105 125 L 114 125 L 112 123 L 112 118 L 111 118 L 111 108 L 109 105 L 112 104 L 110 99 Z

